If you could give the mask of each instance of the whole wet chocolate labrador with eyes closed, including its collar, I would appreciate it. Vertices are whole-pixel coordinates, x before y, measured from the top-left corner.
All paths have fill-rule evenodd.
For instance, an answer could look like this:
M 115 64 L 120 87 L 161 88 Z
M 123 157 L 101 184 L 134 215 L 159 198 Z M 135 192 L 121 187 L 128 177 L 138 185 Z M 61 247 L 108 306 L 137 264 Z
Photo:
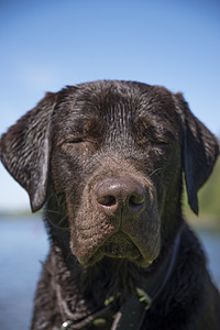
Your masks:
M 32 330 L 219 330 L 220 296 L 182 216 L 219 155 L 182 94 L 96 81 L 46 94 L 0 142 L 44 206 L 51 250 Z

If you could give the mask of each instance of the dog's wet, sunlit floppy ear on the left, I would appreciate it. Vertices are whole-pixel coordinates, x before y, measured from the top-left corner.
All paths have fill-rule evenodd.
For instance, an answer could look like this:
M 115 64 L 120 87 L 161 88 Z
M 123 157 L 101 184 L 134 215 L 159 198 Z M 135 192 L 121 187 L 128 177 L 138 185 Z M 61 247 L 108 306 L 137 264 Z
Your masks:
M 33 212 L 43 206 L 46 198 L 50 123 L 55 102 L 56 94 L 47 92 L 0 140 L 1 162 L 29 193 Z

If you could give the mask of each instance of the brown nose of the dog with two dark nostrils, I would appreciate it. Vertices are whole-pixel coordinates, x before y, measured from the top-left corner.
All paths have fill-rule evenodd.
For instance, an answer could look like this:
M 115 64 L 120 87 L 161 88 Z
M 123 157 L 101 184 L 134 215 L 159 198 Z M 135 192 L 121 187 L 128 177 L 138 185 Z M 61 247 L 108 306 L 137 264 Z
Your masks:
M 99 209 L 108 215 L 119 209 L 136 213 L 144 208 L 145 190 L 132 178 L 107 178 L 97 187 L 96 199 Z

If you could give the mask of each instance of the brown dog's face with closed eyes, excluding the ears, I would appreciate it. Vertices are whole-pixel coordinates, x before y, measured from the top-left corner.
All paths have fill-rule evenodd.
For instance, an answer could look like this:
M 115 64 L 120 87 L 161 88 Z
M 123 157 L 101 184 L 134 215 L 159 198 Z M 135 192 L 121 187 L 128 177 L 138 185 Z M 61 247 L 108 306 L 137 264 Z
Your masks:
M 72 251 L 82 263 L 108 255 L 148 265 L 180 185 L 180 120 L 164 90 L 92 87 L 69 90 L 52 120 L 52 176 L 66 197 Z

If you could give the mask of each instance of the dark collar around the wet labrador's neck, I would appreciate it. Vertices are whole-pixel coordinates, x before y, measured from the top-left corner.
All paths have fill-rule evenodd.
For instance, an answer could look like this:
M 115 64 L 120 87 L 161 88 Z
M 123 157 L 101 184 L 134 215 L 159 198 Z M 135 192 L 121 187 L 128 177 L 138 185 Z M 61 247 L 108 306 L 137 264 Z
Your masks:
M 174 241 L 173 248 L 168 253 L 168 256 L 164 258 L 160 271 L 142 284 L 141 287 L 136 287 L 136 292 L 121 306 L 121 309 L 112 318 L 111 302 L 113 297 L 105 301 L 102 309 L 90 314 L 85 318 L 76 318 L 76 316 L 69 310 L 67 304 L 62 298 L 62 288 L 58 284 L 55 285 L 57 301 L 59 305 L 61 314 L 65 320 L 61 327 L 62 329 L 86 329 L 87 326 L 94 323 L 98 326 L 97 329 L 111 329 L 111 330 L 124 330 L 133 329 L 139 330 L 144 321 L 146 310 L 151 308 L 152 304 L 158 298 L 158 296 L 164 290 L 176 263 L 182 229 L 178 231 L 178 234 Z M 110 316 L 110 318 L 109 318 Z M 108 327 L 103 324 L 100 327 L 101 322 L 105 322 L 107 319 Z M 113 320 L 113 321 L 112 321 Z

